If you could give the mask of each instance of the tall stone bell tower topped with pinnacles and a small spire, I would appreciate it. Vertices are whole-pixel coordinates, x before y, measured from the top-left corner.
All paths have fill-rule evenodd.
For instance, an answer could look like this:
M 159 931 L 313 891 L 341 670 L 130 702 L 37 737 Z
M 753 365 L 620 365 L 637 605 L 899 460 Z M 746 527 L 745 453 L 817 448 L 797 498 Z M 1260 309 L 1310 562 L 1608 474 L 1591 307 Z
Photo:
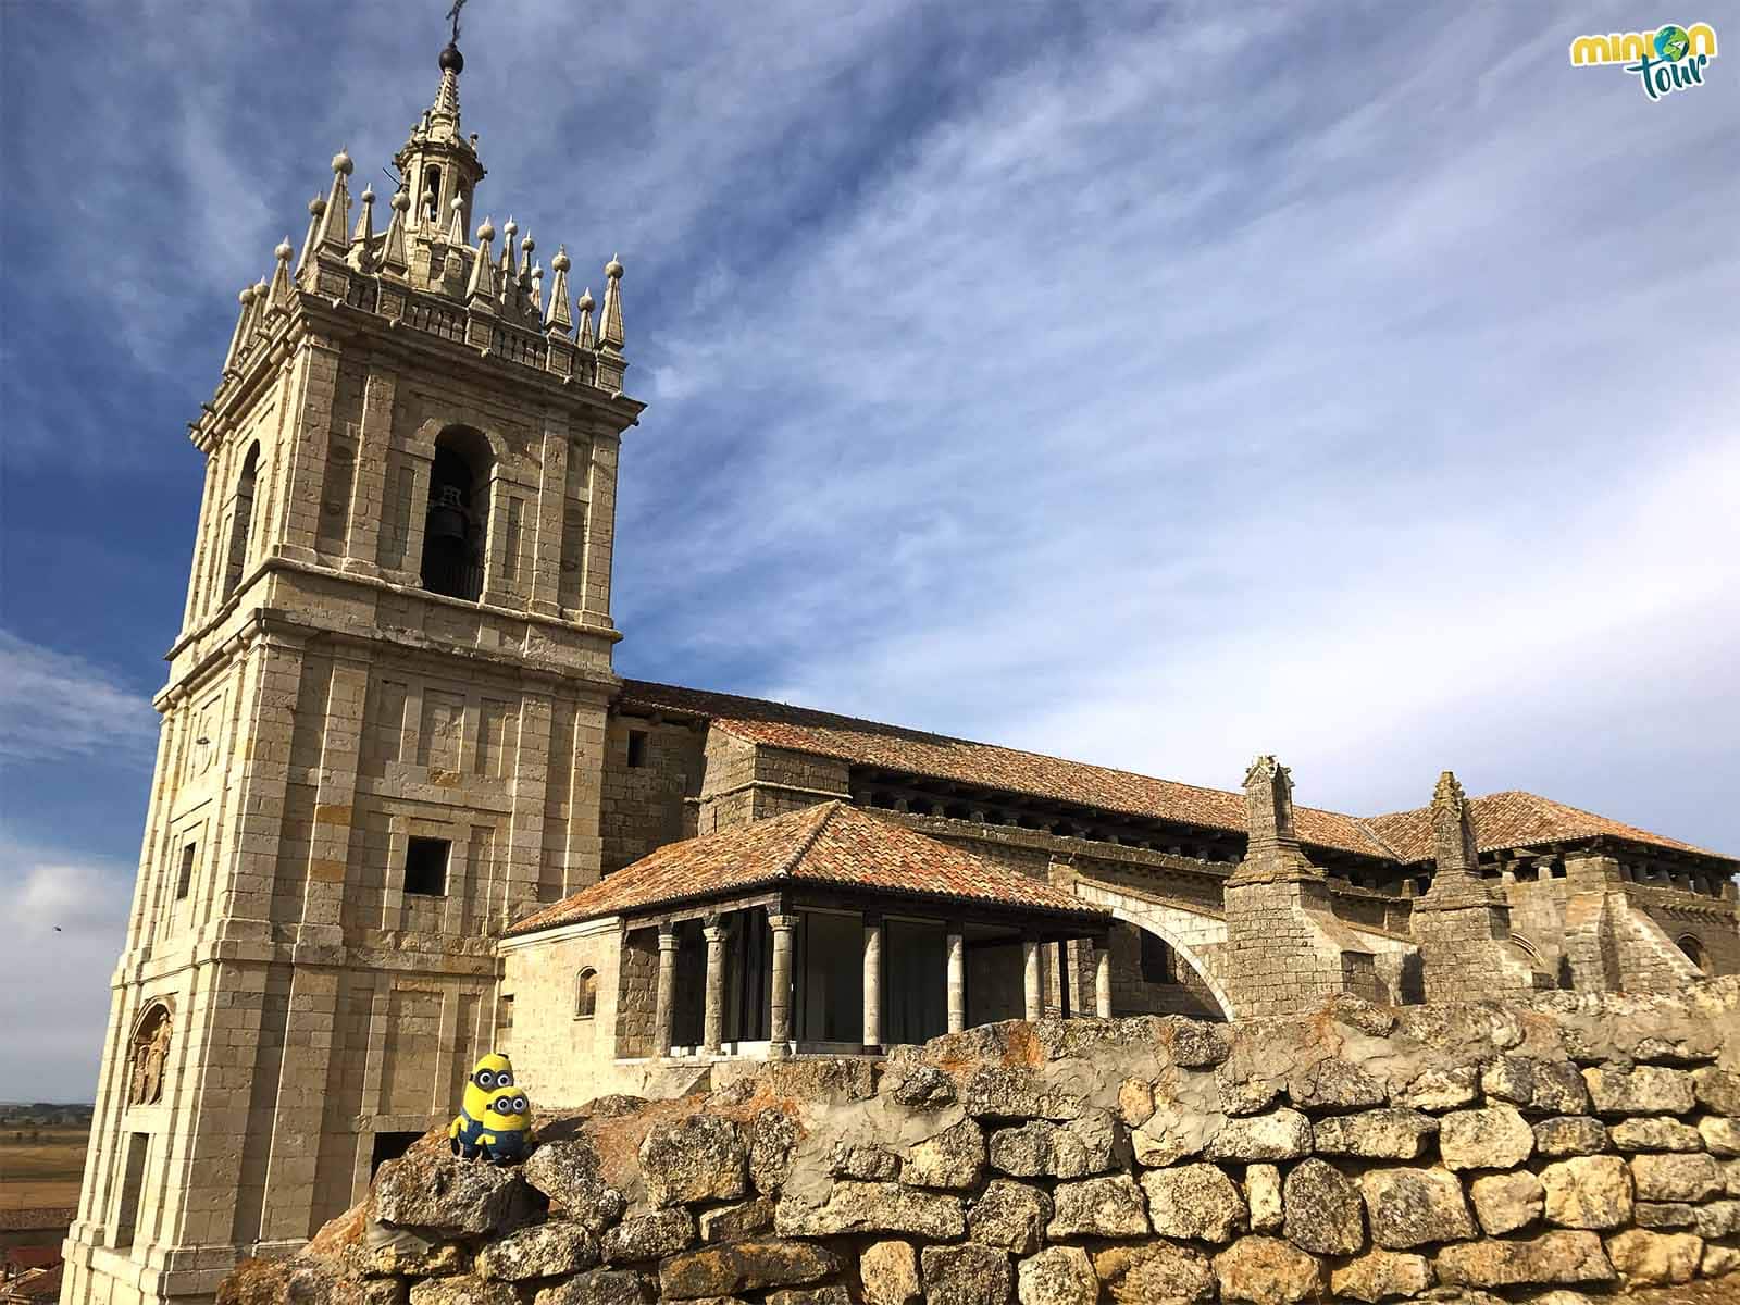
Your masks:
M 456 45 L 372 190 L 242 291 L 64 1305 L 209 1300 L 512 1042 L 494 936 L 599 877 L 621 264 L 470 228 Z M 294 263 L 292 263 L 294 258 Z M 505 1002 L 501 1004 L 506 1006 Z

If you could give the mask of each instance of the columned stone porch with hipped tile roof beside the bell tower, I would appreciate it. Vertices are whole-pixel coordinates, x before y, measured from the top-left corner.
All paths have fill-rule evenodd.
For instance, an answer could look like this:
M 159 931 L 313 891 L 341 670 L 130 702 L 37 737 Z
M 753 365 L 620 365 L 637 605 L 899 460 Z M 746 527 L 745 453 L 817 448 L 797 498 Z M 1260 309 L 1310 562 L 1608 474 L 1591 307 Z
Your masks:
M 1051 966 L 1093 957 L 1091 1013 L 1110 1014 L 1110 924 L 1044 879 L 826 802 L 659 847 L 520 920 L 503 948 L 524 997 L 578 966 L 574 1018 L 593 1027 L 560 1056 L 602 1072 L 877 1054 L 1041 1018 L 1047 948 Z M 1068 1002 L 1077 985 L 1061 987 Z M 548 1041 L 546 1007 L 519 1011 L 538 1021 L 527 1042 Z

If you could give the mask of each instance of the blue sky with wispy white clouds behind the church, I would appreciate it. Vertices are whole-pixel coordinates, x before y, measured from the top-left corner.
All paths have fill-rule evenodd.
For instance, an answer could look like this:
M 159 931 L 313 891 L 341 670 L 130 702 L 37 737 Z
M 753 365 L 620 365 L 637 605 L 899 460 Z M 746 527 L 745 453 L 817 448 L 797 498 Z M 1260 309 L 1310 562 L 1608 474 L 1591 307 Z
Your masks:
M 0 0 L 0 1098 L 90 1094 L 184 426 L 423 7 Z M 628 268 L 618 670 L 1740 853 L 1740 56 L 1566 59 L 1740 9 L 828 9 L 466 7 L 480 211 Z

